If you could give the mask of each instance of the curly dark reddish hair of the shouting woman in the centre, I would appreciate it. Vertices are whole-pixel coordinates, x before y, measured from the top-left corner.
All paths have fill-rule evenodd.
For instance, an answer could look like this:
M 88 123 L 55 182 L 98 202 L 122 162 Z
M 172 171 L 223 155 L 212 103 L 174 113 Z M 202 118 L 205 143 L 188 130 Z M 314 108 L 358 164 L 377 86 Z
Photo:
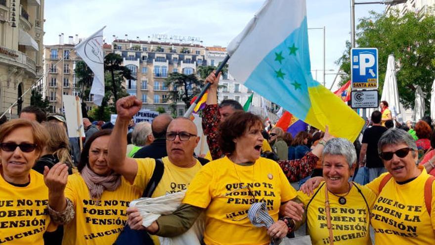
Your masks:
M 234 139 L 241 137 L 245 130 L 261 125 L 261 117 L 250 112 L 237 111 L 219 125 L 219 144 L 224 154 L 230 154 L 236 149 Z

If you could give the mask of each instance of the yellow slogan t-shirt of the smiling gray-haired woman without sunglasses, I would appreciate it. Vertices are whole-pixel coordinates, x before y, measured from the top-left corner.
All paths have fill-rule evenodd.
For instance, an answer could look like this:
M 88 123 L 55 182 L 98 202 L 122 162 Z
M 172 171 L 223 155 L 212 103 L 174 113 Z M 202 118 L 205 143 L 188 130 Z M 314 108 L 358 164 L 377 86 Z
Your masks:
M 306 211 L 307 230 L 306 233 L 311 237 L 313 245 L 329 245 L 329 230 L 326 225 L 325 211 L 325 191 L 326 184 L 320 184 L 321 189 L 314 196 L 313 200 L 306 210 L 306 205 L 312 196 L 307 196 L 302 191 L 298 191 L 298 198 L 304 203 Z M 369 210 L 373 207 L 376 195 L 367 187 L 354 183 L 361 190 L 367 200 L 353 186 L 348 195 L 346 195 L 346 204 L 338 202 L 337 196 L 331 192 L 328 193 L 329 205 L 331 207 L 331 225 L 334 235 L 334 244 L 336 245 L 371 245 L 369 232 Z M 319 186 L 319 187 L 320 187 Z M 314 193 L 319 189 L 314 190 Z M 343 196 L 343 195 L 340 195 Z

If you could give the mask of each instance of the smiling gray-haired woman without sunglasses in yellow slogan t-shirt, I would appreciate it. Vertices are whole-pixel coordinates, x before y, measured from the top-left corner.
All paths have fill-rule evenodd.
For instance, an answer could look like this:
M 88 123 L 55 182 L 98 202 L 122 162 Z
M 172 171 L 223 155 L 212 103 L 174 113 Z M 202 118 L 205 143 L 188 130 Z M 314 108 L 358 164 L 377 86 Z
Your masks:
M 330 244 L 331 239 L 336 245 L 372 244 L 369 221 L 376 196 L 369 188 L 348 181 L 355 167 L 353 144 L 346 139 L 331 139 L 323 150 L 325 182 L 314 190 L 313 196 L 299 191 L 297 201 L 302 204 L 289 201 L 283 208 L 284 215 L 294 218 L 297 226 L 307 223 L 306 233 L 313 245 Z

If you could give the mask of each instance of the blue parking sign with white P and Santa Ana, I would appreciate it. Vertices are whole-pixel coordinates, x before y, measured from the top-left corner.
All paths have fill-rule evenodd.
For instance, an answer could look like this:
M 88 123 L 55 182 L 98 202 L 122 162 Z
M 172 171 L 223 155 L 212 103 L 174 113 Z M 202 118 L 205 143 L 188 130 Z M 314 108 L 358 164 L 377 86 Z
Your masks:
M 350 65 L 352 89 L 378 88 L 378 49 L 351 49 Z

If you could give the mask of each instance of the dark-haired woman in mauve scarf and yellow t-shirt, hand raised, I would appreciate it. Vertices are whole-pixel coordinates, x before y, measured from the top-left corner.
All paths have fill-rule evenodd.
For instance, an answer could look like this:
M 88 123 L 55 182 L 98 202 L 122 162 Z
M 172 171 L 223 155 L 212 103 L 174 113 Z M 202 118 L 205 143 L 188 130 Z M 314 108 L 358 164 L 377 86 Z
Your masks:
M 79 173 L 68 177 L 65 190 L 50 196 L 52 219 L 64 224 L 63 245 L 113 244 L 127 223 L 126 209 L 141 196 L 138 187 L 115 173 L 107 164 L 111 130 L 94 133 L 83 148 Z M 49 184 L 59 182 L 47 176 Z

